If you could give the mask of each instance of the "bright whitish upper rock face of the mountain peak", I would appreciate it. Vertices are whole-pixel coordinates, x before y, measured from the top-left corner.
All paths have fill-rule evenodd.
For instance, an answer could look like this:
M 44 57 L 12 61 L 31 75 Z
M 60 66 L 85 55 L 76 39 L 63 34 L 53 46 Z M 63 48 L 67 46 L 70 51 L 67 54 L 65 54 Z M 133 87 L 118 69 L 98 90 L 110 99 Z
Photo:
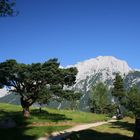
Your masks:
M 112 75 L 119 72 L 121 75 L 128 74 L 132 69 L 126 61 L 116 59 L 113 56 L 98 56 L 84 62 L 79 62 L 74 67 L 78 69 L 77 82 L 84 80 L 91 75 L 103 72 L 103 81 L 106 80 L 106 72 Z

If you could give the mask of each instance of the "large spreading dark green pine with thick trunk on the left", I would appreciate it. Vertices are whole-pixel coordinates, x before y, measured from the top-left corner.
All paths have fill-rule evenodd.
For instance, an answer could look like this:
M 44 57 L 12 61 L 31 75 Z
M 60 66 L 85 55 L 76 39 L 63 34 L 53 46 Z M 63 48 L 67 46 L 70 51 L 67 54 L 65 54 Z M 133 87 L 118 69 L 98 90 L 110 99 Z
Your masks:
M 55 96 L 61 96 L 57 90 L 63 90 L 64 85 L 74 84 L 76 74 L 76 68 L 59 68 L 57 59 L 30 65 L 7 60 L 0 63 L 0 87 L 7 86 L 20 94 L 24 116 L 28 117 L 29 107 L 37 101 L 40 93 L 45 93 L 48 85 Z M 56 88 L 53 90 L 51 87 Z

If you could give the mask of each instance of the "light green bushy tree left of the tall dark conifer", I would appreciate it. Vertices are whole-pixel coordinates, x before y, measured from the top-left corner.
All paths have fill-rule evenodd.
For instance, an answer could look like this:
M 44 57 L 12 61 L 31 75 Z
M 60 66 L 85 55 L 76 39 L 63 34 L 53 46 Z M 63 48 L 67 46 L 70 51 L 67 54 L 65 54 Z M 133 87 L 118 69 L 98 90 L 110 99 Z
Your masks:
M 93 86 L 90 91 L 91 111 L 95 113 L 108 113 L 109 106 L 111 106 L 111 100 L 107 86 L 103 83 Z

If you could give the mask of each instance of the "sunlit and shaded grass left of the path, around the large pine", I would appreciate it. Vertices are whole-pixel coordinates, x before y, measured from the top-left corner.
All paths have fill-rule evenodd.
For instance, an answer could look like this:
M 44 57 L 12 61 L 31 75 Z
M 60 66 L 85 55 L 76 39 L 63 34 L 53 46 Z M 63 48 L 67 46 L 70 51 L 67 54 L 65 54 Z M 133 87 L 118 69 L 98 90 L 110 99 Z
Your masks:
M 31 108 L 31 116 L 25 119 L 21 106 L 0 103 L 0 119 L 7 117 L 13 118 L 17 123 L 17 127 L 0 129 L 0 139 L 3 140 L 35 140 L 54 131 L 67 129 L 72 124 L 108 119 L 105 115 L 49 108 L 43 108 L 42 113 L 39 113 L 39 110 L 36 108 Z M 33 123 L 36 126 L 33 126 Z M 40 123 L 48 123 L 48 125 L 40 126 L 38 125 Z

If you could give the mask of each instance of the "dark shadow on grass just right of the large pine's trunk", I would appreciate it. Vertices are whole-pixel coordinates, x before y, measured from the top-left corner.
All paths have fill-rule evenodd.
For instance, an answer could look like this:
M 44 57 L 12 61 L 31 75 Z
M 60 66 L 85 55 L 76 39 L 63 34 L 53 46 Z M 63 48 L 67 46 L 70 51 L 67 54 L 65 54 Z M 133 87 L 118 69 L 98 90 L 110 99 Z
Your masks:
M 51 121 L 51 122 L 72 120 L 71 118 L 67 118 L 63 114 L 49 113 L 46 110 L 42 110 L 41 112 L 39 112 L 39 110 L 35 109 L 35 110 L 32 110 L 31 115 L 36 116 L 41 120 L 46 120 L 46 121 Z

